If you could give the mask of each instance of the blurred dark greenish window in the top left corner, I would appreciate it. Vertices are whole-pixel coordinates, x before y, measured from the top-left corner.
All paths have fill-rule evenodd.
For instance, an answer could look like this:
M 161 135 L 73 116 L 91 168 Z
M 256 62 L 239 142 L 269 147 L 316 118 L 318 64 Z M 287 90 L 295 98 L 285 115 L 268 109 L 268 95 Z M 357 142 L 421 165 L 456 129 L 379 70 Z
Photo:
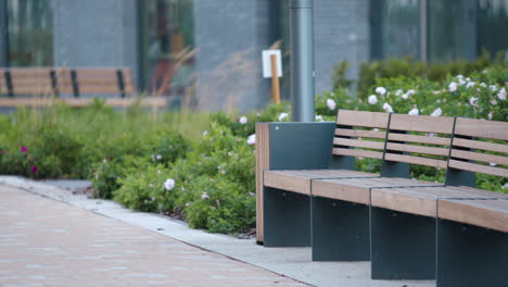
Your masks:
M 53 65 L 53 17 L 50 0 L 8 0 L 10 66 Z

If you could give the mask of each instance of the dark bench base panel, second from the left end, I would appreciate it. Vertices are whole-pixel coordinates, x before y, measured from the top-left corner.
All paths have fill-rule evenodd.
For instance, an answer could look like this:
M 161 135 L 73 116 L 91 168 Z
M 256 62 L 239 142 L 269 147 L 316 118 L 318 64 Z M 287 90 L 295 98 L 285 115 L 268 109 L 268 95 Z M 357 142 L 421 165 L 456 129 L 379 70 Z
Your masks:
M 312 198 L 313 261 L 369 261 L 369 207 Z

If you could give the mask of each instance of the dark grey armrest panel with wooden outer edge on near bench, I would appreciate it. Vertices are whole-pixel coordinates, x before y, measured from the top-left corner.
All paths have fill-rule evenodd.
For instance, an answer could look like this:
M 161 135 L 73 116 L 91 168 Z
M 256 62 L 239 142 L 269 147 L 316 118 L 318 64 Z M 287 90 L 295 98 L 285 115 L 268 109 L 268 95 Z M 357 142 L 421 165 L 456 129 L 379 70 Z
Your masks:
M 258 123 L 262 170 L 328 169 L 335 123 Z

